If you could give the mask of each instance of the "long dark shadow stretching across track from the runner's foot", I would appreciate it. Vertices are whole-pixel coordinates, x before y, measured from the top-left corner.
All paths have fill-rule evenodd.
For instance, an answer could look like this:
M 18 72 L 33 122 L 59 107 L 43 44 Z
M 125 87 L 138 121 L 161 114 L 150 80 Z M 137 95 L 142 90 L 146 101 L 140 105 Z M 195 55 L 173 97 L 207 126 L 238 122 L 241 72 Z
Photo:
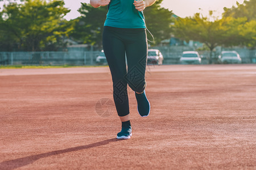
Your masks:
M 35 162 L 36 160 L 38 160 L 38 159 L 46 158 L 48 156 L 65 154 L 67 152 L 73 152 L 73 151 L 79 151 L 79 150 L 85 150 L 85 149 L 88 149 L 88 148 L 108 145 L 110 142 L 117 142 L 117 141 L 121 141 L 121 140 L 116 139 L 116 138 L 112 138 L 112 139 L 107 139 L 105 141 L 91 143 L 89 145 L 71 147 L 71 148 L 66 148 L 64 150 L 56 150 L 56 151 L 46 152 L 46 153 L 43 153 L 43 154 L 26 156 L 24 158 L 7 160 L 5 162 L 0 163 L 0 169 L 10 170 L 10 169 L 15 169 L 15 168 L 20 168 L 20 167 L 23 167 L 25 165 L 31 164 L 31 163 Z

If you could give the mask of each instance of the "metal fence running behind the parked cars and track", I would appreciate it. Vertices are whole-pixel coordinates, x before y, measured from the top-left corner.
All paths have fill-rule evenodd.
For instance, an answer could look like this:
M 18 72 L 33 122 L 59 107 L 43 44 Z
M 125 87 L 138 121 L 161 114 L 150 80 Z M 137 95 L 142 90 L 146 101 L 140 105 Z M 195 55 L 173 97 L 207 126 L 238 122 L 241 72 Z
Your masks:
M 163 64 L 179 64 L 179 59 L 183 51 L 193 50 L 187 46 L 160 46 L 159 49 L 164 57 Z M 256 50 L 243 48 L 222 48 L 221 50 L 236 50 L 242 63 L 256 63 Z M 221 50 L 212 53 L 212 63 Z M 202 63 L 208 64 L 210 58 L 209 51 L 200 51 Z M 0 52 L 0 65 L 96 65 L 96 58 L 100 51 L 94 52 Z

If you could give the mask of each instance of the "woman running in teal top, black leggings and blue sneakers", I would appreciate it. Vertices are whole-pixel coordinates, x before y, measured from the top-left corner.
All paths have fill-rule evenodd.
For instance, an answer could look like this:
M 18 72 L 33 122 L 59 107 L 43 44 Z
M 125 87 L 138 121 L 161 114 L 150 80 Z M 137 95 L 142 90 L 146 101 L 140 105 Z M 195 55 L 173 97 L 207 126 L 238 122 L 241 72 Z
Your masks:
M 127 84 L 135 92 L 139 114 L 146 117 L 150 113 L 150 103 L 145 92 L 147 35 L 142 11 L 155 1 L 90 0 L 90 5 L 95 8 L 106 5 L 109 8 L 102 45 L 112 74 L 115 108 L 122 122 L 117 139 L 131 137 Z

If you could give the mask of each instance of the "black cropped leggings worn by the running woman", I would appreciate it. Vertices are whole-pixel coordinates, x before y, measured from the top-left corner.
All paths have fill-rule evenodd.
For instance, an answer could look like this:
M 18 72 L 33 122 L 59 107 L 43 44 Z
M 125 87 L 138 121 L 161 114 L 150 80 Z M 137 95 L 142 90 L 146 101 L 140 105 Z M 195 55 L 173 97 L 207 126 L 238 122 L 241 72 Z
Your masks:
M 115 108 L 118 116 L 126 116 L 130 113 L 127 84 L 135 92 L 146 88 L 146 29 L 105 26 L 102 45 L 112 74 Z

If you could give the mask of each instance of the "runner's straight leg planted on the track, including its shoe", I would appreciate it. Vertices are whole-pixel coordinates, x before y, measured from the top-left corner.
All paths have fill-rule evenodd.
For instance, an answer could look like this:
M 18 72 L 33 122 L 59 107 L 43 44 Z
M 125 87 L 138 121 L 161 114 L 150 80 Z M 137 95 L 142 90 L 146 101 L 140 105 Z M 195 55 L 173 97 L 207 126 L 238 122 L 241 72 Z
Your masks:
M 102 44 L 112 74 L 115 108 L 122 122 L 122 130 L 117 134 L 117 138 L 129 139 L 131 137 L 131 124 L 127 80 L 125 79 L 127 70 L 125 45 L 123 44 L 121 35 L 122 32 L 118 28 L 104 27 Z

